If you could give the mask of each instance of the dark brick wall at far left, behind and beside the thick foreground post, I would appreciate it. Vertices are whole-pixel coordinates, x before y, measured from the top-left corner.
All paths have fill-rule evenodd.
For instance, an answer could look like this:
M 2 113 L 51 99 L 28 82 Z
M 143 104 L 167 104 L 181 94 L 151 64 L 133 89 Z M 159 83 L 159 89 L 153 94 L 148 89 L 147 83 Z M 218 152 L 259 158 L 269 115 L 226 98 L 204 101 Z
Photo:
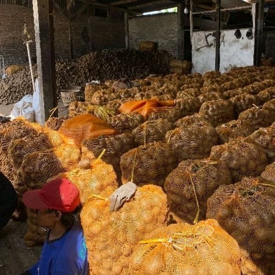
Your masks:
M 25 19 L 24 19 L 25 18 Z M 32 59 L 36 58 L 33 10 L 19 5 L 0 4 L 0 55 L 4 55 L 5 65 L 24 64 L 28 62 L 26 46 L 23 45 L 22 31 L 24 21 L 33 43 L 31 43 Z M 88 29 L 88 18 L 77 17 L 71 22 L 74 56 L 78 57 L 90 52 L 89 42 L 83 41 L 83 29 Z M 70 58 L 69 23 L 60 13 L 54 12 L 55 56 Z

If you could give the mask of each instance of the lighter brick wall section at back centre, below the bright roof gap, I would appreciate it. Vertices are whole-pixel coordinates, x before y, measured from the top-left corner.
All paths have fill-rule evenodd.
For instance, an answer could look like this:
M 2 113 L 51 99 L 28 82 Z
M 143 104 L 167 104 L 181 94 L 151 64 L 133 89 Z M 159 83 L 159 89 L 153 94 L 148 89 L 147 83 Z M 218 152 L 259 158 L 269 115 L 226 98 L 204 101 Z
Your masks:
M 176 13 L 140 16 L 129 20 L 130 46 L 138 49 L 141 41 L 158 43 L 158 48 L 177 55 L 178 25 Z

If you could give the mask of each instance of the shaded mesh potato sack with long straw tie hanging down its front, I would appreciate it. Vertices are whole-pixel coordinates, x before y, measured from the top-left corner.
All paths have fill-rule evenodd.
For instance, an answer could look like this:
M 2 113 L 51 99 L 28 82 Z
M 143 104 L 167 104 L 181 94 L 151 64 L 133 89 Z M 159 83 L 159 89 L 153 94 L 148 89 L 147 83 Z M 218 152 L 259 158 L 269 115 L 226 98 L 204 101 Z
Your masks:
M 188 223 L 205 219 L 206 202 L 222 184 L 230 184 L 225 162 L 183 160 L 164 182 L 169 209 Z

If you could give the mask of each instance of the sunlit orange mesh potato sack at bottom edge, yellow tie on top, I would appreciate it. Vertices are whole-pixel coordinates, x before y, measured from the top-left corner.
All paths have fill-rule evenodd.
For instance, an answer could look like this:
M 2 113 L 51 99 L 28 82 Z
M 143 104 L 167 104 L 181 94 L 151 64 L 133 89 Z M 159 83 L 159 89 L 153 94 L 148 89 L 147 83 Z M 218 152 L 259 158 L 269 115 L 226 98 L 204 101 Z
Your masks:
M 139 242 L 129 270 L 131 275 L 240 275 L 240 248 L 215 220 L 173 224 Z

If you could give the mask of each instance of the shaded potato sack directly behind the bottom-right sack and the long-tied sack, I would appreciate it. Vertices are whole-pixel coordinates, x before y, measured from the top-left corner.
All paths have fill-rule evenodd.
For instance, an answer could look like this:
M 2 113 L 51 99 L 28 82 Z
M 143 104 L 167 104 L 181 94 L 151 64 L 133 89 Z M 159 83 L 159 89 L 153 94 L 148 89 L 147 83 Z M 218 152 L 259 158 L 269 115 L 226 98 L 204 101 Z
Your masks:
M 210 159 L 227 163 L 233 183 L 243 177 L 259 176 L 268 164 L 263 147 L 248 138 L 231 139 L 223 145 L 213 146 Z

